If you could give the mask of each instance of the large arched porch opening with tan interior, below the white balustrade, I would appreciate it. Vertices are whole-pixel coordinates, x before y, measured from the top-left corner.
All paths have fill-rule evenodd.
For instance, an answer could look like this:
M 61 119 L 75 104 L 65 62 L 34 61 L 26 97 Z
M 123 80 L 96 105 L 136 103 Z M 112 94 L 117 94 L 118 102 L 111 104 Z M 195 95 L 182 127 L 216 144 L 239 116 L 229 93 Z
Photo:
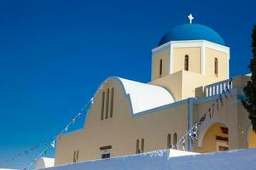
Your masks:
M 202 135 L 202 144 L 198 152 L 229 150 L 229 129 L 224 123 L 212 123 Z

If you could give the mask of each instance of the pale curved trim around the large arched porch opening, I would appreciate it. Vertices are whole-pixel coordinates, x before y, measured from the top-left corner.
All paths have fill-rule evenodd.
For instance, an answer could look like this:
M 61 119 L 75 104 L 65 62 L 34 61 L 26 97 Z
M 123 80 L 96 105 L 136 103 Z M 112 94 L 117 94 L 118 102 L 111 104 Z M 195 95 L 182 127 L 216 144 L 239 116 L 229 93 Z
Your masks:
M 228 127 L 228 123 L 218 117 L 212 117 L 211 120 L 204 122 L 201 125 L 199 135 L 198 135 L 198 143 L 197 143 L 198 147 L 202 147 L 202 142 L 203 142 L 205 134 L 207 133 L 207 130 L 209 129 L 209 127 L 212 126 L 212 124 L 214 124 L 216 122 L 223 123 L 226 127 Z

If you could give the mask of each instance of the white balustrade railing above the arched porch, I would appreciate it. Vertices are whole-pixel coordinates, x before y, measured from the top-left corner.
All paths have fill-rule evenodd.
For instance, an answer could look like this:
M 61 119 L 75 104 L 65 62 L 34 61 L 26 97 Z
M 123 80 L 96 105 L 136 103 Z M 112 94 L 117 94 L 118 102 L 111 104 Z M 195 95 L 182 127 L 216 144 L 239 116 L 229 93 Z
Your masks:
M 221 82 L 209 84 L 205 86 L 204 93 L 206 97 L 210 97 L 213 95 L 222 94 L 223 91 L 226 91 L 226 88 L 233 88 L 232 79 L 227 79 Z

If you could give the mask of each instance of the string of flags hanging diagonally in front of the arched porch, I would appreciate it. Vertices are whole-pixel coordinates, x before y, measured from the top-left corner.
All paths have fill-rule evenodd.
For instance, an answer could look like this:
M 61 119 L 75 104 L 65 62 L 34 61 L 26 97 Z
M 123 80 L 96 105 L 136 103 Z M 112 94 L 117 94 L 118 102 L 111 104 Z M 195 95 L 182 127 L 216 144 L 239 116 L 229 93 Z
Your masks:
M 198 139 L 198 126 L 202 124 L 202 122 L 204 122 L 207 118 L 207 116 L 209 116 L 210 120 L 212 119 L 212 117 L 214 116 L 214 112 L 215 112 L 215 108 L 217 108 L 217 111 L 219 111 L 219 102 L 221 107 L 223 107 L 224 105 L 224 101 L 223 99 L 229 99 L 229 95 L 232 98 L 232 94 L 230 92 L 230 88 L 231 88 L 231 83 L 232 83 L 232 78 L 230 79 L 230 81 L 228 82 L 229 86 L 226 86 L 222 92 L 222 94 L 218 95 L 218 98 L 212 103 L 212 105 L 210 105 L 210 107 L 207 109 L 207 111 L 198 119 L 197 122 L 195 122 L 195 124 L 189 129 L 189 131 L 187 133 L 185 133 L 183 135 L 183 137 L 181 139 L 179 139 L 177 141 L 177 144 L 174 144 L 172 146 L 172 149 L 178 149 L 179 148 L 179 143 L 182 142 L 183 144 L 183 150 L 186 150 L 186 140 L 185 137 L 188 135 L 189 139 L 191 141 L 191 144 L 195 143 L 195 140 Z

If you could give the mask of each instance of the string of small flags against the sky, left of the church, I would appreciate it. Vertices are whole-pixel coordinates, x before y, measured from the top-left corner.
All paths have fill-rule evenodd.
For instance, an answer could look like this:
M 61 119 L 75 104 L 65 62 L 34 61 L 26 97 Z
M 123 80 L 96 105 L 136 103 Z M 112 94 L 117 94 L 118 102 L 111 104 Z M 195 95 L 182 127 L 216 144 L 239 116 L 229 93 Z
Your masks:
M 84 107 L 79 111 L 79 113 L 78 113 L 76 116 L 74 116 L 70 122 L 67 123 L 67 126 L 65 126 L 65 127 L 61 130 L 61 132 L 58 133 L 58 134 L 51 140 L 51 142 L 50 142 L 49 144 L 47 144 L 47 143 L 45 144 L 45 145 L 48 145 L 48 146 L 45 147 L 44 150 L 43 150 L 42 152 L 40 152 L 40 154 L 38 154 L 38 156 L 32 160 L 32 162 L 30 162 L 29 164 L 27 164 L 26 167 L 23 168 L 23 170 L 28 170 L 30 167 L 32 167 L 32 165 L 33 165 L 41 156 L 47 155 L 47 154 L 48 154 L 48 150 L 49 150 L 50 148 L 55 148 L 55 141 L 56 141 L 56 140 L 60 140 L 60 139 L 61 139 L 61 135 L 62 135 L 63 133 L 67 133 L 68 128 L 69 128 L 71 125 L 73 125 L 73 124 L 77 121 L 77 119 L 79 119 L 79 118 L 82 116 L 83 111 L 85 111 L 85 110 L 88 108 L 88 105 L 89 105 L 89 104 L 93 104 L 93 98 L 91 98 L 91 99 L 84 105 Z

